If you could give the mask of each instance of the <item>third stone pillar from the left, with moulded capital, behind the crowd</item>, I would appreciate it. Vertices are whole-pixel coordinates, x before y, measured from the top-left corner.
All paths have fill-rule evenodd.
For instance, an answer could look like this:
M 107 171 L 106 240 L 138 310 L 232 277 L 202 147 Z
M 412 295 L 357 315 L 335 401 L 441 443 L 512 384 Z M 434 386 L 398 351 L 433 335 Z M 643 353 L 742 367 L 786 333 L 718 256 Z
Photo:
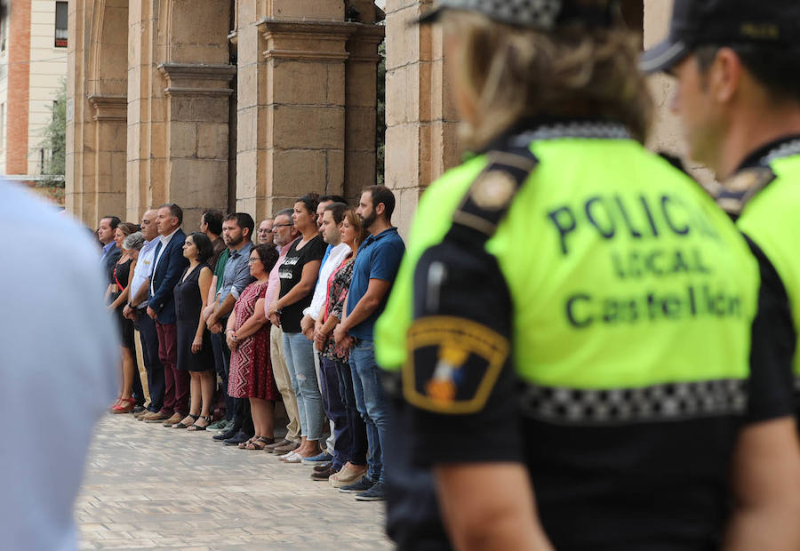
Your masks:
M 316 10 L 319 4 L 343 8 L 314 4 Z M 263 60 L 257 62 L 252 36 L 250 45 L 238 37 L 239 55 L 248 66 L 238 84 L 238 210 L 260 219 L 308 191 L 343 192 L 346 44 L 356 27 L 335 20 L 262 19 Z

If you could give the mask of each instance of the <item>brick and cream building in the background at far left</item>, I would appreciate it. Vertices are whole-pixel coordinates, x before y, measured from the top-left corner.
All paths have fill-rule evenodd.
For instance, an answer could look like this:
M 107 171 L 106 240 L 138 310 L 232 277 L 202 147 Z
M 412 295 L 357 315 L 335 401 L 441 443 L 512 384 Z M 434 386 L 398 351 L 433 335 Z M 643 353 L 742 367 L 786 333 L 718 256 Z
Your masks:
M 44 128 L 67 77 L 68 3 L 14 0 L 0 21 L 0 174 L 40 180 Z

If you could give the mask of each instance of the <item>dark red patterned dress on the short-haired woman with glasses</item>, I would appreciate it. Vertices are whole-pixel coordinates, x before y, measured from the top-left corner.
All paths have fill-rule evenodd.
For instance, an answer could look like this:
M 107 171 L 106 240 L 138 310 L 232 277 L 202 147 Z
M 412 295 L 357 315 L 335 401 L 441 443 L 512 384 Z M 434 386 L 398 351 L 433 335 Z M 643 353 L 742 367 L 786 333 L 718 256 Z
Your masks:
M 256 301 L 263 299 L 266 294 L 267 283 L 256 281 L 245 287 L 234 307 L 234 331 L 238 331 L 250 319 Z M 231 351 L 228 395 L 233 398 L 276 400 L 277 387 L 269 361 L 269 323 L 262 325 L 250 337 L 239 340 L 236 350 Z

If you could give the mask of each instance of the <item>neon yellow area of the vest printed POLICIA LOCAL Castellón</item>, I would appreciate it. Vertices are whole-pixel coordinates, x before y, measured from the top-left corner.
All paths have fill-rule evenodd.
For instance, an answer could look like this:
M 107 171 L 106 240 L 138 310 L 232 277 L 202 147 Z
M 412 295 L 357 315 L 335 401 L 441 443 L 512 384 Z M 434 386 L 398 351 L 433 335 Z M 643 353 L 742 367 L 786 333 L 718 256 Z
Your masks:
M 724 212 L 620 126 L 540 127 L 516 140 L 530 143 L 539 164 L 485 248 L 514 303 L 521 379 L 556 393 L 697 384 L 700 398 L 714 395 L 715 381 L 739 386 L 759 276 Z M 388 371 L 407 358 L 414 268 L 441 243 L 486 164 L 477 156 L 447 172 L 420 200 L 375 329 L 376 359 Z

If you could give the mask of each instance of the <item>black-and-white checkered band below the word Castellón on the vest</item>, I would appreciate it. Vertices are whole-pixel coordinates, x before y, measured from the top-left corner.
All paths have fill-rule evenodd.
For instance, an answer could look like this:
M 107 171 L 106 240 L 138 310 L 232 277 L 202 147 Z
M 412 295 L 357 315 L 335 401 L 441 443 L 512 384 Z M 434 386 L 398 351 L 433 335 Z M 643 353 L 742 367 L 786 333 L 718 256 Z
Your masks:
M 614 425 L 739 415 L 748 398 L 740 379 L 586 390 L 526 385 L 522 410 L 565 425 Z

